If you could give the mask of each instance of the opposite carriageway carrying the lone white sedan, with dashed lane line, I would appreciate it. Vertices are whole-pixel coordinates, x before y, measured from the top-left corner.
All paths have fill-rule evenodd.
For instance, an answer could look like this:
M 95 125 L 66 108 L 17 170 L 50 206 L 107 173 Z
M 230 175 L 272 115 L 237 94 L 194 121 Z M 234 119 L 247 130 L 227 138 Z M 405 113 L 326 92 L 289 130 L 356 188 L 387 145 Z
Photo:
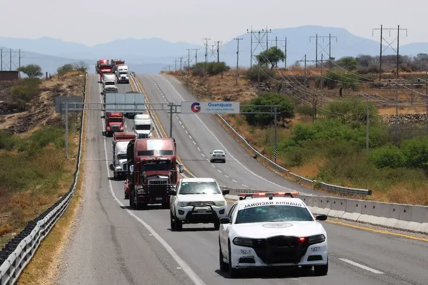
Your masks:
M 138 75 L 149 101 L 194 101 L 195 98 L 175 78 L 162 75 Z M 273 191 L 300 191 L 303 194 L 319 194 L 284 179 L 254 159 L 209 114 L 176 114 L 173 120 L 173 137 L 177 141 L 178 154 L 184 165 L 196 176 L 215 177 L 221 185 L 234 188 L 253 188 Z M 157 116 L 169 134 L 170 117 L 166 111 Z M 223 149 L 226 163 L 210 163 L 210 152 Z

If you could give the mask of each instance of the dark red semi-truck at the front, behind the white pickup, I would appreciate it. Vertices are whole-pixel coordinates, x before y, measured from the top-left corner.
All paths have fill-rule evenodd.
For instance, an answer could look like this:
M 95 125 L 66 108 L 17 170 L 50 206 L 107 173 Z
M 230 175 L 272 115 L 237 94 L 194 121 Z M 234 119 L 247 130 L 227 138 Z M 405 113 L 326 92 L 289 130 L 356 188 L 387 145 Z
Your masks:
M 183 165 L 177 165 L 174 140 L 172 138 L 131 140 L 127 146 L 126 156 L 131 209 L 160 203 L 163 207 L 169 208 L 170 189 L 178 182 L 178 172 L 183 172 Z

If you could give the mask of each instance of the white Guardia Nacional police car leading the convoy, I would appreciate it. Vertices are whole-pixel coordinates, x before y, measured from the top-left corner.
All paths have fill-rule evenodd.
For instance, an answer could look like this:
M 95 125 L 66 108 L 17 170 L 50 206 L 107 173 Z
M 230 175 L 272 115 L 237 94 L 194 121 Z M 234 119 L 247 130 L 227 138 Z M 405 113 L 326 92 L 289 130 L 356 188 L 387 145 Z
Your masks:
M 220 219 L 220 269 L 231 277 L 240 269 L 273 266 L 328 271 L 327 233 L 305 203 L 287 193 L 246 193 Z M 248 198 L 252 199 L 248 199 Z

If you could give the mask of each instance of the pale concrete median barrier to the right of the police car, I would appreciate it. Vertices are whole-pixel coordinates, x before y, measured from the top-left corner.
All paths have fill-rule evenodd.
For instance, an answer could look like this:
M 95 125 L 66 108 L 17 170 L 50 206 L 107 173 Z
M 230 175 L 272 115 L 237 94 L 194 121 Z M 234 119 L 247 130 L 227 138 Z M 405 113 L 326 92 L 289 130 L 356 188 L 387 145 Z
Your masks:
M 226 187 L 222 187 L 224 189 Z M 256 189 L 228 188 L 228 199 L 237 200 L 240 193 L 262 192 Z M 428 207 L 355 200 L 337 197 L 297 195 L 313 214 L 360 222 L 396 230 L 428 234 Z

